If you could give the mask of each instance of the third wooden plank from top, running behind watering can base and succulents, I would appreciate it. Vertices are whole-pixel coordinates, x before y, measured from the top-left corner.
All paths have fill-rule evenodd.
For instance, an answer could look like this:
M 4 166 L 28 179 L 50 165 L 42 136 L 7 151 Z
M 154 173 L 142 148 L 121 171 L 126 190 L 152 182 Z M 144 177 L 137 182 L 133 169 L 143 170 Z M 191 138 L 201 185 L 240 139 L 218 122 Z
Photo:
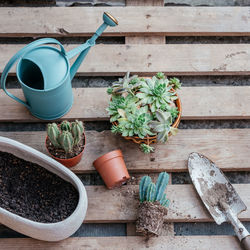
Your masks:
M 185 83 L 184 83 L 185 85 Z M 23 99 L 20 89 L 11 93 Z M 76 88 L 74 105 L 62 119 L 109 120 L 106 88 Z M 183 120 L 249 119 L 250 86 L 183 87 L 179 92 Z M 101 98 L 100 98 L 101 97 Z M 0 92 L 0 121 L 37 122 L 28 109 Z M 94 112 L 93 112 L 94 111 Z

